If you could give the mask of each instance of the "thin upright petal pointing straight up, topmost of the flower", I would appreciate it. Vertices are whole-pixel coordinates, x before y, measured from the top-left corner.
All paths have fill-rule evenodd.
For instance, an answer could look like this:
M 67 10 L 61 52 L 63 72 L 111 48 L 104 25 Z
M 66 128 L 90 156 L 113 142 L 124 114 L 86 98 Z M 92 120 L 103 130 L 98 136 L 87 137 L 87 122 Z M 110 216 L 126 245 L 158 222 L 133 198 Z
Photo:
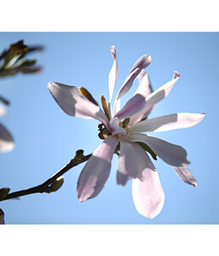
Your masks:
M 113 91 L 116 85 L 116 80 L 117 80 L 117 75 L 118 75 L 118 61 L 117 61 L 117 54 L 116 54 L 116 49 L 115 46 L 112 45 L 111 48 L 111 54 L 112 54 L 112 59 L 113 59 L 113 64 L 111 71 L 109 73 L 108 77 L 108 88 L 109 88 L 109 102 L 112 101 L 112 95 Z

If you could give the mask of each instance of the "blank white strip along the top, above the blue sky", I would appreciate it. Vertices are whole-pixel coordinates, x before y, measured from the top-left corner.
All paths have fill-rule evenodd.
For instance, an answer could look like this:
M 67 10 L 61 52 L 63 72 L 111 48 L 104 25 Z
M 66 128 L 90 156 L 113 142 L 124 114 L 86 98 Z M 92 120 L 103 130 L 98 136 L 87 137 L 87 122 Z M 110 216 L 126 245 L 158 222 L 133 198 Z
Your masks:
M 2 1 L 2 32 L 218 32 L 217 1 Z

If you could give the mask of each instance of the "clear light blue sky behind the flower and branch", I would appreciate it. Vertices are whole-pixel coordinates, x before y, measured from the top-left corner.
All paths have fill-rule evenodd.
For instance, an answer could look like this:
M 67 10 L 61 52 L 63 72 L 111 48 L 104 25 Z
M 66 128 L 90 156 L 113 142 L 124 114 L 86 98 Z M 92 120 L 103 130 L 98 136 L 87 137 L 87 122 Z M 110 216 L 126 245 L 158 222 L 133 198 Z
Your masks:
M 189 166 L 198 186 L 183 183 L 162 160 L 154 162 L 165 193 L 164 208 L 153 219 L 136 212 L 131 183 L 116 183 L 117 156 L 112 161 L 106 187 L 95 199 L 78 202 L 76 185 L 84 165 L 64 176 L 65 183 L 53 194 L 26 195 L 19 201 L 0 203 L 7 224 L 219 224 L 218 92 L 219 34 L 181 32 L 10 32 L 0 33 L 0 50 L 20 39 L 42 44 L 37 58 L 42 73 L 16 75 L 0 80 L 0 95 L 11 101 L 9 114 L 1 119 L 14 136 L 16 146 L 0 154 L 0 187 L 11 191 L 43 183 L 71 160 L 75 151 L 92 153 L 101 143 L 96 120 L 72 118 L 49 94 L 49 81 L 84 86 L 99 101 L 108 98 L 107 79 L 112 67 L 110 46 L 118 55 L 118 81 L 123 84 L 135 61 L 152 55 L 147 67 L 153 89 L 169 81 L 172 71 L 181 78 L 170 95 L 153 109 L 150 117 L 169 113 L 206 113 L 192 128 L 157 133 L 156 136 L 187 149 Z M 137 83 L 124 101 L 135 91 Z

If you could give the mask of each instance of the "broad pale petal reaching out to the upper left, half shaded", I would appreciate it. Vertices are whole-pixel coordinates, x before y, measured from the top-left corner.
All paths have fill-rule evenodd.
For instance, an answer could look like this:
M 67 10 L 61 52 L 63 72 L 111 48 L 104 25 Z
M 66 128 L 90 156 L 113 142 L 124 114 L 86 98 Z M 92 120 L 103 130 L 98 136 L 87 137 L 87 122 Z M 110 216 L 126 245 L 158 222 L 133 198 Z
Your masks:
M 75 86 L 49 82 L 48 88 L 65 113 L 84 119 L 98 119 L 109 128 L 107 116 L 101 108 L 90 102 Z

